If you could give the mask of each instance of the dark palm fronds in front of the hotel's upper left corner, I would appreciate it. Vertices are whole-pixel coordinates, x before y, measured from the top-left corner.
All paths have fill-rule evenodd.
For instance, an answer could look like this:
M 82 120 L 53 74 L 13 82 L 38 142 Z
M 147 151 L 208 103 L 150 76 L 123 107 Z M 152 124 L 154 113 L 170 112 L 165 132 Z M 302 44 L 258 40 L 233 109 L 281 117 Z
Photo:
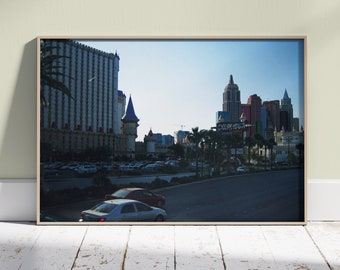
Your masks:
M 46 98 L 43 94 L 43 87 L 49 86 L 52 89 L 61 91 L 63 94 L 67 95 L 71 99 L 70 89 L 58 79 L 58 76 L 65 77 L 63 73 L 64 65 L 60 60 L 68 58 L 67 56 L 62 56 L 54 54 L 54 49 L 56 46 L 52 45 L 50 40 L 41 40 L 40 43 L 40 103 L 43 106 L 47 106 Z M 71 78 L 72 79 L 72 78 Z

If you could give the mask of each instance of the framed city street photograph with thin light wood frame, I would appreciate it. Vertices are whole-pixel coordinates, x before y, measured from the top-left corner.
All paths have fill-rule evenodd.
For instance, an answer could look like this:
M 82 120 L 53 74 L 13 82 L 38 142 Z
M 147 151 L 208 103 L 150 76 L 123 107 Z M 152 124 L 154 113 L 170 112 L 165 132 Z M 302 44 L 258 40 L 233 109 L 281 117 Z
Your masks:
M 306 37 L 38 37 L 38 224 L 305 224 Z

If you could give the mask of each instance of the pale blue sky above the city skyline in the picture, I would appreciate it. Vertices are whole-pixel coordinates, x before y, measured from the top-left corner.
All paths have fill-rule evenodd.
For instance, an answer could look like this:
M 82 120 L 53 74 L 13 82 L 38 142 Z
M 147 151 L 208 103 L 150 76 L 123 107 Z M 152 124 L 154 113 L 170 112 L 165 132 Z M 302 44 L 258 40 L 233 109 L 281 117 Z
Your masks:
M 257 94 L 280 100 L 285 89 L 294 117 L 304 123 L 302 39 L 82 40 L 120 57 L 118 88 L 131 96 L 140 119 L 137 141 L 153 133 L 173 135 L 216 125 L 223 91 L 233 75 L 241 103 Z

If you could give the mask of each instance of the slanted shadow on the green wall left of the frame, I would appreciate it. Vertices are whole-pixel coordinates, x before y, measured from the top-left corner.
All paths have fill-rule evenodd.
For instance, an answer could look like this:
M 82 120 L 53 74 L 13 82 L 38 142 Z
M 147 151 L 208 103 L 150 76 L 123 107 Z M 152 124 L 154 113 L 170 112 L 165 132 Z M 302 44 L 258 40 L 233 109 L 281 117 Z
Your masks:
M 10 89 L 3 89 L 10 91 Z M 24 46 L 12 104 L 0 147 L 0 178 L 36 177 L 36 39 Z

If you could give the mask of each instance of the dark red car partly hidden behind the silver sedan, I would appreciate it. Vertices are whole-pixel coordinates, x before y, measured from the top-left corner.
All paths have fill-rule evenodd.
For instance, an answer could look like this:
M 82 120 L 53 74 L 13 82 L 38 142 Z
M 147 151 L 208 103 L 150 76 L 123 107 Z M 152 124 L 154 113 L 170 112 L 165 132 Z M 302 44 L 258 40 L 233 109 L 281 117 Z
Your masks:
M 165 205 L 164 196 L 144 188 L 122 188 L 112 194 L 105 195 L 105 200 L 111 199 L 132 199 L 156 207 L 163 207 Z

